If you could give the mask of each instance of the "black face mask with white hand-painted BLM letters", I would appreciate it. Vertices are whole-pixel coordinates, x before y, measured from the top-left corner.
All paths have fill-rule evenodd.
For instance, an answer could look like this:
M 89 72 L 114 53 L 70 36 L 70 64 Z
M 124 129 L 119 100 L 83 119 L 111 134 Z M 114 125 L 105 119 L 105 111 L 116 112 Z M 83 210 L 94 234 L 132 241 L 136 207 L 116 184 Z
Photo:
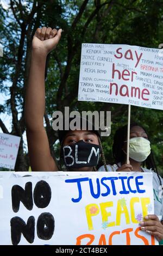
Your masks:
M 101 154 L 99 145 L 78 141 L 62 149 L 65 165 L 70 168 L 96 166 Z

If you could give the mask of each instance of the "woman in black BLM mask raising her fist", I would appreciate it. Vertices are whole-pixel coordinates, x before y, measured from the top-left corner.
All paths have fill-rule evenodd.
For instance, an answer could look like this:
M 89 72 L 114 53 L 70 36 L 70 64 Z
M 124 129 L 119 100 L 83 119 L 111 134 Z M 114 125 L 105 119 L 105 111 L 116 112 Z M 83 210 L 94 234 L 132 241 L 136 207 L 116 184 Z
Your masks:
M 37 28 L 32 41 L 25 118 L 30 166 L 33 171 L 58 170 L 49 149 L 43 116 L 45 114 L 46 57 L 57 46 L 60 38 L 61 29 L 57 31 L 57 29 L 43 27 Z M 106 168 L 100 135 L 95 129 L 60 131 L 59 139 L 61 159 L 64 160 L 67 170 L 90 172 L 96 170 L 100 155 Z

